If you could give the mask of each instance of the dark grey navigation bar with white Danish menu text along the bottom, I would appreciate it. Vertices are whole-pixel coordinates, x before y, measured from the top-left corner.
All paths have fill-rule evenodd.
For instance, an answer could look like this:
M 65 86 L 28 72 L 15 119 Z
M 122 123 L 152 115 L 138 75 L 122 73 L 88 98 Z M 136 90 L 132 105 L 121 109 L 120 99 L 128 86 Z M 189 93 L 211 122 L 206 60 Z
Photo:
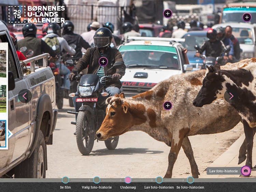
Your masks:
M 239 182 L 239 183 L 80 183 L 70 182 L 54 183 L 54 182 L 1 182 L 1 191 L 34 191 L 34 192 L 45 192 L 45 191 L 109 191 L 109 192 L 122 192 L 122 191 L 147 191 L 147 192 L 161 192 L 161 191 L 244 191 L 244 192 L 255 192 L 256 182 Z

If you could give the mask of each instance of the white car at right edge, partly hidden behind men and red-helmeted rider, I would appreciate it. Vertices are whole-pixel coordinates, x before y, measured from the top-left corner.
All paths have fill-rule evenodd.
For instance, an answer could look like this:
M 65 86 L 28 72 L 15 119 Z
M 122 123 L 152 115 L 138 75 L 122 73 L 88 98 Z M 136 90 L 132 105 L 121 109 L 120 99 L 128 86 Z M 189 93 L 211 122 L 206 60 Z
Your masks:
M 243 50 L 244 59 L 256 57 L 256 25 L 248 23 L 222 23 L 214 25 L 217 27 L 232 27 L 232 34 L 239 40 L 240 48 Z M 242 58 L 241 58 L 242 59 Z

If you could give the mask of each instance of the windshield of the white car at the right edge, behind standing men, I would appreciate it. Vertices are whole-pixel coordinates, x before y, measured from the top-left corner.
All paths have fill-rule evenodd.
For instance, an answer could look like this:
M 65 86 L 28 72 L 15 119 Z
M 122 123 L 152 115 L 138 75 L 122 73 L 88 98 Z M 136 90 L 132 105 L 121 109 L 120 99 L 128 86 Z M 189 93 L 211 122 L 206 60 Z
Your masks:
M 240 44 L 253 44 L 253 34 L 251 29 L 233 27 L 232 34 L 239 40 Z

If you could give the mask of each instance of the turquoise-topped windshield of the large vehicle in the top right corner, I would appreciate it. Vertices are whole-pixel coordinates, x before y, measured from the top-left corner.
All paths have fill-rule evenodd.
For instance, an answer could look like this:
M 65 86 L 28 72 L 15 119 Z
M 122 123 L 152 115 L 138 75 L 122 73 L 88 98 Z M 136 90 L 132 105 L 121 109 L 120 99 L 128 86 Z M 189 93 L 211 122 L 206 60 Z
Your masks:
M 222 14 L 221 23 L 244 23 L 243 14 L 250 13 L 252 18 L 256 18 L 256 8 L 249 8 L 246 7 L 240 9 L 232 9 L 232 8 L 224 8 Z M 250 24 L 256 24 L 256 19 L 251 19 Z

